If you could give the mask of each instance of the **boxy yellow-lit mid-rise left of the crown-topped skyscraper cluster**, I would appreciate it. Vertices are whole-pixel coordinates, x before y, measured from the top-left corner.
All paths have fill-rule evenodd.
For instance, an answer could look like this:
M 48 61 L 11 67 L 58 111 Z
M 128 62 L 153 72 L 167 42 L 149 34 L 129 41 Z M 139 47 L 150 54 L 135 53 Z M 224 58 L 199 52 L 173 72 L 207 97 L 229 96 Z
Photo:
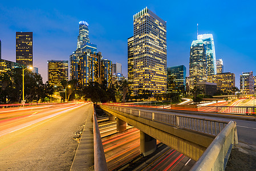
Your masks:
M 48 82 L 51 86 L 62 87 L 62 80 L 68 82 L 68 60 L 48 60 Z

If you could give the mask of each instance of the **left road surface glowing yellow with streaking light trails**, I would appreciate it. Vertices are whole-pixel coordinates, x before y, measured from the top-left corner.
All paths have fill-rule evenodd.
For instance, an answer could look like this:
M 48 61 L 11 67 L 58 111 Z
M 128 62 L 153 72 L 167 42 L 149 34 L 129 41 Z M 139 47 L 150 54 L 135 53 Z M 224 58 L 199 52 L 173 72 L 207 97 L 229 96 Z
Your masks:
M 89 112 L 85 103 L 0 109 L 0 170 L 70 170 Z

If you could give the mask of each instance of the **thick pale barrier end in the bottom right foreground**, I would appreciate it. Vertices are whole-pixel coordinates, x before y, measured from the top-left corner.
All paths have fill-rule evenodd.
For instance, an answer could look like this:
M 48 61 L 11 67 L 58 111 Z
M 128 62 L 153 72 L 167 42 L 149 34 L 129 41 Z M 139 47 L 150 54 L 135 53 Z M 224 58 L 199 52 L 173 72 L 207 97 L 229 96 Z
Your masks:
M 225 170 L 234 144 L 238 144 L 237 126 L 230 121 L 190 170 Z

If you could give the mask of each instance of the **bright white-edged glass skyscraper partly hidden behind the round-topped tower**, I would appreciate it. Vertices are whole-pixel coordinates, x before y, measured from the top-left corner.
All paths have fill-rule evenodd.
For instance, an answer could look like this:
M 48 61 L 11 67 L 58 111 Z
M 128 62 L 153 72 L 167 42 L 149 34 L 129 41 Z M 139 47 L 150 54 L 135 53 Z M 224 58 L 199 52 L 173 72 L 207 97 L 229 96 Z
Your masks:
M 198 40 L 202 40 L 205 44 L 205 54 L 207 61 L 207 75 L 215 75 L 216 72 L 216 55 L 215 55 L 215 47 L 213 41 L 212 34 L 200 34 L 197 36 Z

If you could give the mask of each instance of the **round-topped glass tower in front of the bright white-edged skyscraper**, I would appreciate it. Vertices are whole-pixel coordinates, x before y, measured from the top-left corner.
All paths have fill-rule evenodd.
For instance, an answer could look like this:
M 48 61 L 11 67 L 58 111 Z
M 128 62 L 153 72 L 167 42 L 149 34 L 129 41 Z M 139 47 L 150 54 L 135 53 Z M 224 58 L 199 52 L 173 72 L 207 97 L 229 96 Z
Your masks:
M 190 46 L 189 88 L 207 80 L 207 62 L 205 44 L 202 40 L 194 40 Z

